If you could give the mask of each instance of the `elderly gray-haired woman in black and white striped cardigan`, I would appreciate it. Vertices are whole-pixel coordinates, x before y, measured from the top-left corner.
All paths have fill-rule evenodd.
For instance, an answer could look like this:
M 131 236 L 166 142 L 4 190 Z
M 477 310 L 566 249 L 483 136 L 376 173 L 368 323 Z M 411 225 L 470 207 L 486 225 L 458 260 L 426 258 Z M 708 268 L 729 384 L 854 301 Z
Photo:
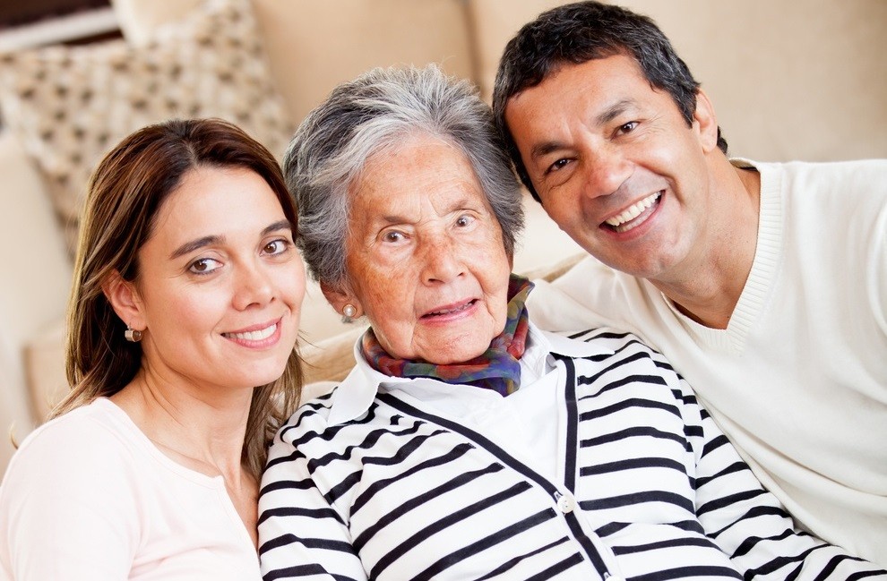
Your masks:
M 846 579 L 661 355 L 534 328 L 521 193 L 488 108 L 435 67 L 344 84 L 284 161 L 311 273 L 370 328 L 269 453 L 266 579 Z M 580 340 L 577 340 L 580 339 Z

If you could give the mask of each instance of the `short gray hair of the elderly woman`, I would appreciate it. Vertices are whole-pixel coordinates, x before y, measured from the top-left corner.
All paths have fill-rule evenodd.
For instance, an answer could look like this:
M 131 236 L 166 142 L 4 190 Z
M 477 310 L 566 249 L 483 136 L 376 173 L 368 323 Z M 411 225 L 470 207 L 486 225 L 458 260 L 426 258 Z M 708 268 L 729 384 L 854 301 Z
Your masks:
M 468 158 L 513 255 L 523 227 L 521 191 L 489 107 L 468 81 L 448 78 L 434 64 L 374 69 L 333 90 L 299 126 L 283 158 L 299 213 L 297 244 L 315 279 L 346 279 L 349 187 L 366 160 L 422 133 Z

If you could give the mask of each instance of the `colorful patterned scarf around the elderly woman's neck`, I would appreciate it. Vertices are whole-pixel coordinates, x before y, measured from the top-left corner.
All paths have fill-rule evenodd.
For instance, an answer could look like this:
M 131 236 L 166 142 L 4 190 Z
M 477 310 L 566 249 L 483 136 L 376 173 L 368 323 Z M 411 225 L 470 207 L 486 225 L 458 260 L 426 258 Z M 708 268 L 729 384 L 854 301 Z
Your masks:
M 529 316 L 527 295 L 533 283 L 512 274 L 508 281 L 508 313 L 505 329 L 495 337 L 483 355 L 464 363 L 437 365 L 424 361 L 396 359 L 389 355 L 367 329 L 363 337 L 366 361 L 373 369 L 392 377 L 429 377 L 445 383 L 465 383 L 493 389 L 502 396 L 513 393 L 521 384 L 521 356 L 527 346 Z

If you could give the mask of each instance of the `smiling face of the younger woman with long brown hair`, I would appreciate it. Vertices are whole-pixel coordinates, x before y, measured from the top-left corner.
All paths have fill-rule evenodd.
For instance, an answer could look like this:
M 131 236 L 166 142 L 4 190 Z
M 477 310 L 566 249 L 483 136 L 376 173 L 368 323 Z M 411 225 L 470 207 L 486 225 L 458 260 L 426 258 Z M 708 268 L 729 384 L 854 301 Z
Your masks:
M 142 365 L 199 389 L 253 388 L 295 346 L 305 270 L 264 179 L 199 167 L 160 207 L 134 285 Z

